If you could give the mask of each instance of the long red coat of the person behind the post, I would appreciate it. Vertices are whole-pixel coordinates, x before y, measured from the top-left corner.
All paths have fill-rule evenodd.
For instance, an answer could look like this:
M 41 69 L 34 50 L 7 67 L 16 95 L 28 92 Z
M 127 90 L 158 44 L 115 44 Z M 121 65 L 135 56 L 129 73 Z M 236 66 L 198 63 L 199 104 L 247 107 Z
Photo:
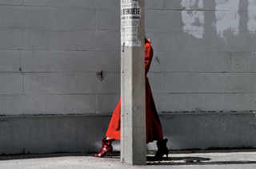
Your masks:
M 153 58 L 153 49 L 150 41 L 145 41 L 145 72 L 148 73 L 150 64 Z M 146 77 L 146 76 L 145 76 Z M 153 142 L 154 140 L 162 140 L 162 125 L 160 123 L 157 109 L 155 108 L 154 98 L 150 88 L 150 83 L 146 77 L 146 143 Z M 121 129 L 121 100 L 119 100 L 117 107 L 112 114 L 109 128 L 106 136 L 112 139 L 120 140 Z

